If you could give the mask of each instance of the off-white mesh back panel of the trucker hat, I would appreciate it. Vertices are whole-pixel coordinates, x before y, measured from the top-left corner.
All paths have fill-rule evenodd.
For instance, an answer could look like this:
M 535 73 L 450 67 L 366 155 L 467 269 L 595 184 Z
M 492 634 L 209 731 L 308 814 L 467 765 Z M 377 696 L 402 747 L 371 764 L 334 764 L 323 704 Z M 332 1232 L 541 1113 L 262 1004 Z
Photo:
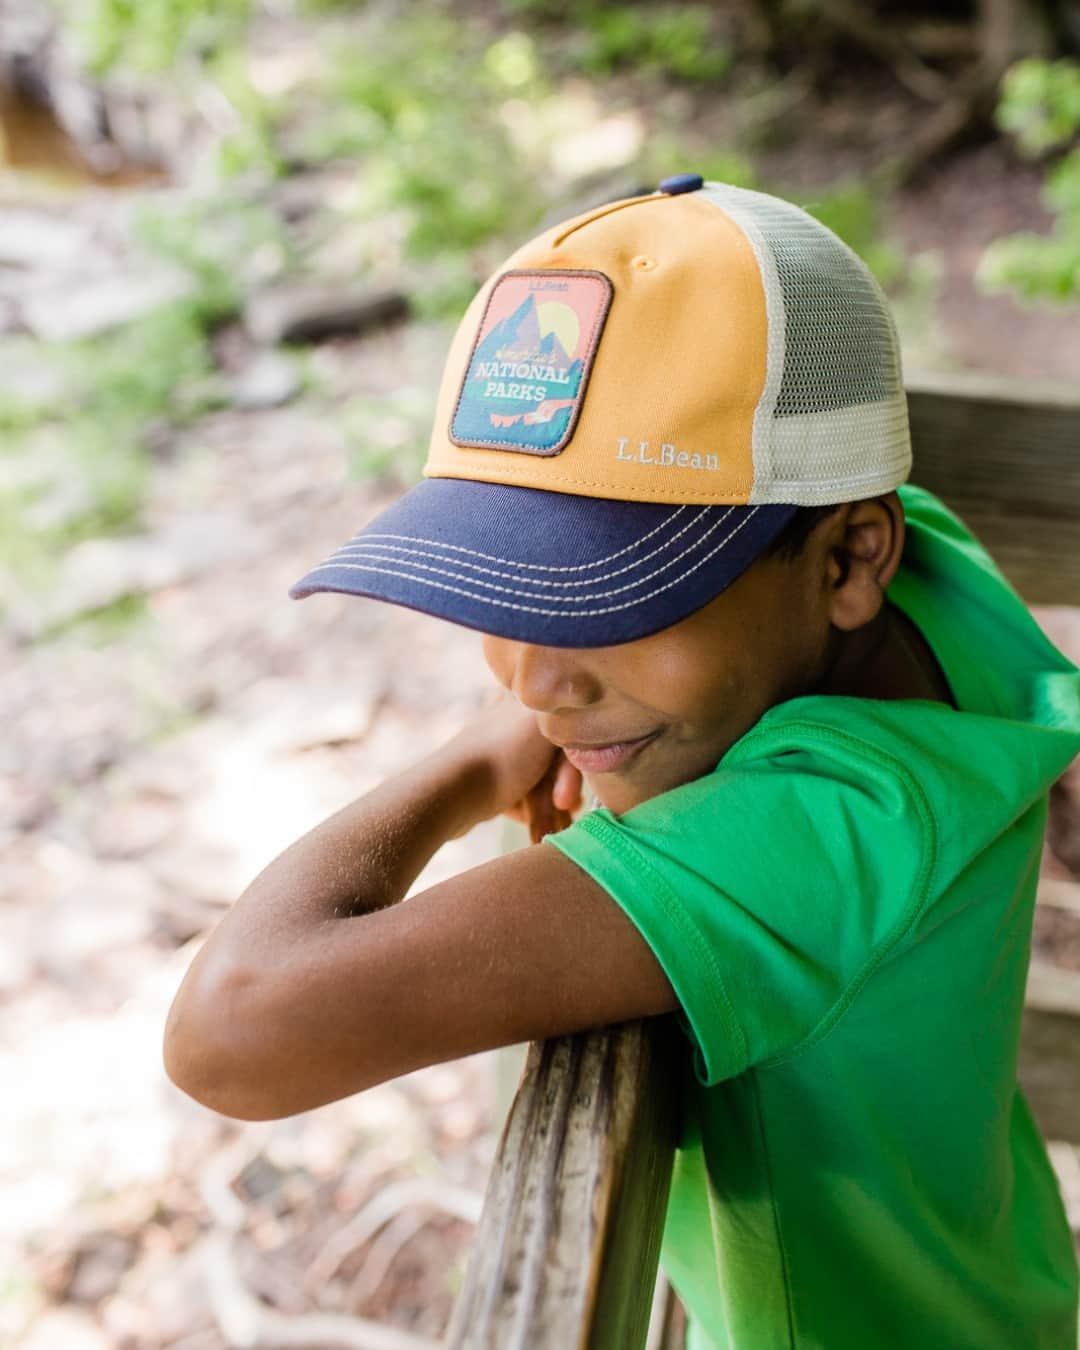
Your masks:
M 846 244 L 791 202 L 709 182 L 761 271 L 765 385 L 753 423 L 751 501 L 856 501 L 911 470 L 899 342 L 876 279 Z

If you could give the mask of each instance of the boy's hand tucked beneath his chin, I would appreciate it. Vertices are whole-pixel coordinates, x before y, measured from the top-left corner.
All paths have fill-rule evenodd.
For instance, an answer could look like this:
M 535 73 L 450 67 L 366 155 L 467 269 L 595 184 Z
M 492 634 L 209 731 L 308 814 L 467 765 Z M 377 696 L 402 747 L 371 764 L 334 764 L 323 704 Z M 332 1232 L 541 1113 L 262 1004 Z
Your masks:
M 566 829 L 580 806 L 580 772 L 540 734 L 535 714 L 512 698 L 482 713 L 448 749 L 479 756 L 486 764 L 490 799 L 485 818 L 505 814 L 521 821 L 533 844 Z

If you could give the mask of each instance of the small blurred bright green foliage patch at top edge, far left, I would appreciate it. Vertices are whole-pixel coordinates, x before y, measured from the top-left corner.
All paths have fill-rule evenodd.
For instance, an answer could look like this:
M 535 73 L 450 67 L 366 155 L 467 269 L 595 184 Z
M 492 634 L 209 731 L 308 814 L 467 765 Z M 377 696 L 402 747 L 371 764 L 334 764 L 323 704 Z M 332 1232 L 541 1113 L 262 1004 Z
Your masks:
M 243 32 L 251 0 L 57 0 L 94 74 L 173 69 Z

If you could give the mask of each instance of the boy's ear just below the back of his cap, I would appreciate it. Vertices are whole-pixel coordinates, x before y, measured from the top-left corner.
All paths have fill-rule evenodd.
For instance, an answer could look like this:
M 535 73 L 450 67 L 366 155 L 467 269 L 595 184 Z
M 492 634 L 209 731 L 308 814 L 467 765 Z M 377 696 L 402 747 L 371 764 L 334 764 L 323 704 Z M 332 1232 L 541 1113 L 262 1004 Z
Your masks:
M 903 506 L 896 493 L 845 506 L 830 522 L 826 559 L 829 620 L 853 632 L 876 618 L 903 554 Z

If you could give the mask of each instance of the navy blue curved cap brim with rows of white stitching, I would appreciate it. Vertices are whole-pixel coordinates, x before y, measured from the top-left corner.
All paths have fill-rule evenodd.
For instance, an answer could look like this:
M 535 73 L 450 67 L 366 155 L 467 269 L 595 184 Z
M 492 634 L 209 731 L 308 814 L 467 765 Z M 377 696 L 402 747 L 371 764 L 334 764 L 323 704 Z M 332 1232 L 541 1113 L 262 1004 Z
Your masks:
M 427 478 L 289 594 L 367 595 L 543 647 L 613 647 L 707 605 L 796 510 Z

